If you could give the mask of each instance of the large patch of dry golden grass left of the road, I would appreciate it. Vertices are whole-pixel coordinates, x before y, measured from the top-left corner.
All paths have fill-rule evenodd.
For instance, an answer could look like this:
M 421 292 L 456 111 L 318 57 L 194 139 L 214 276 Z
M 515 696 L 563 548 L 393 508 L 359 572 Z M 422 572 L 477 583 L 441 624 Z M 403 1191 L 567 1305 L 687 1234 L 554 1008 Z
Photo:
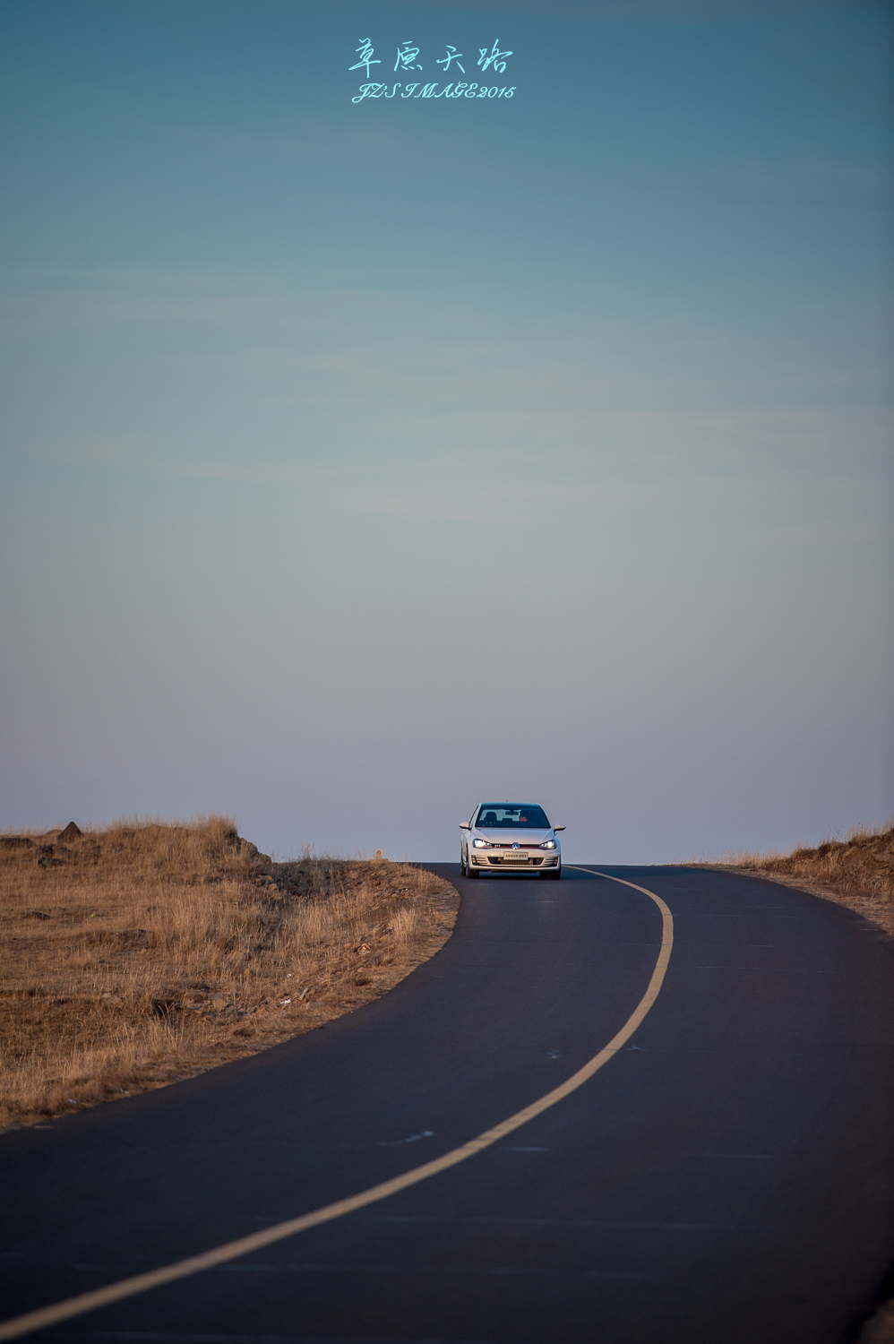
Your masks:
M 425 870 L 273 863 L 222 817 L 0 835 L 0 1128 L 320 1027 L 437 952 L 457 909 Z

